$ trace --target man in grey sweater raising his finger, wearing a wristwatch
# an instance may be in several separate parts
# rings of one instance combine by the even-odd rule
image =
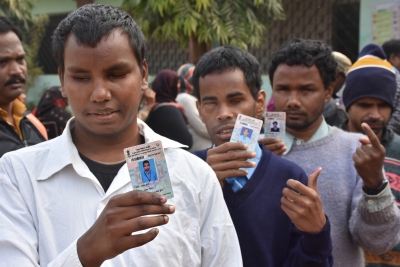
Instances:
[[[363,249],[380,254],[399,242],[399,210],[382,171],[385,149],[371,127],[358,125],[366,138],[322,116],[335,75],[332,50],[313,40],[283,45],[269,67],[276,110],[286,112],[284,158],[305,172],[322,167],[318,192],[332,226],[334,265],[362,267]]]

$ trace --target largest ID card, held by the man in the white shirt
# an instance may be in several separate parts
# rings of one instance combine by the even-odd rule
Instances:
[[[124,149],[133,190],[174,197],[161,141]]]

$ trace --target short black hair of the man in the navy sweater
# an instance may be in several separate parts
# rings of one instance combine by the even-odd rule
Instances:
[[[199,102],[199,80],[207,74],[223,72],[227,69],[240,69],[243,71],[246,85],[250,88],[251,95],[257,98],[261,90],[261,69],[257,59],[247,51],[233,46],[220,46],[204,54],[196,65],[193,73],[193,95]]]

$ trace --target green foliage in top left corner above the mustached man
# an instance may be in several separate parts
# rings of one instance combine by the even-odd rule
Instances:
[[[47,15],[37,16],[32,13],[34,2],[35,0],[0,0],[0,16],[7,16],[20,26],[24,35],[23,46],[29,74],[25,89],[31,87],[36,77],[43,73],[37,56],[49,22]]]

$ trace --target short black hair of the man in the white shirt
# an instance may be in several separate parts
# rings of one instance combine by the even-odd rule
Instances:
[[[125,11],[101,4],[88,4],[71,12],[57,26],[53,34],[53,53],[64,71],[65,42],[73,34],[79,45],[95,48],[103,37],[115,29],[128,35],[136,60],[142,69],[146,56],[146,39],[135,20]]]

